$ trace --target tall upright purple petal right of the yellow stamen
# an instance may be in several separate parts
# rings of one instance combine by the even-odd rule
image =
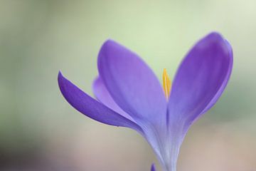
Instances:
[[[219,33],[210,33],[196,43],[174,78],[169,121],[183,123],[188,128],[218,100],[228,83],[232,66],[231,46]]]

